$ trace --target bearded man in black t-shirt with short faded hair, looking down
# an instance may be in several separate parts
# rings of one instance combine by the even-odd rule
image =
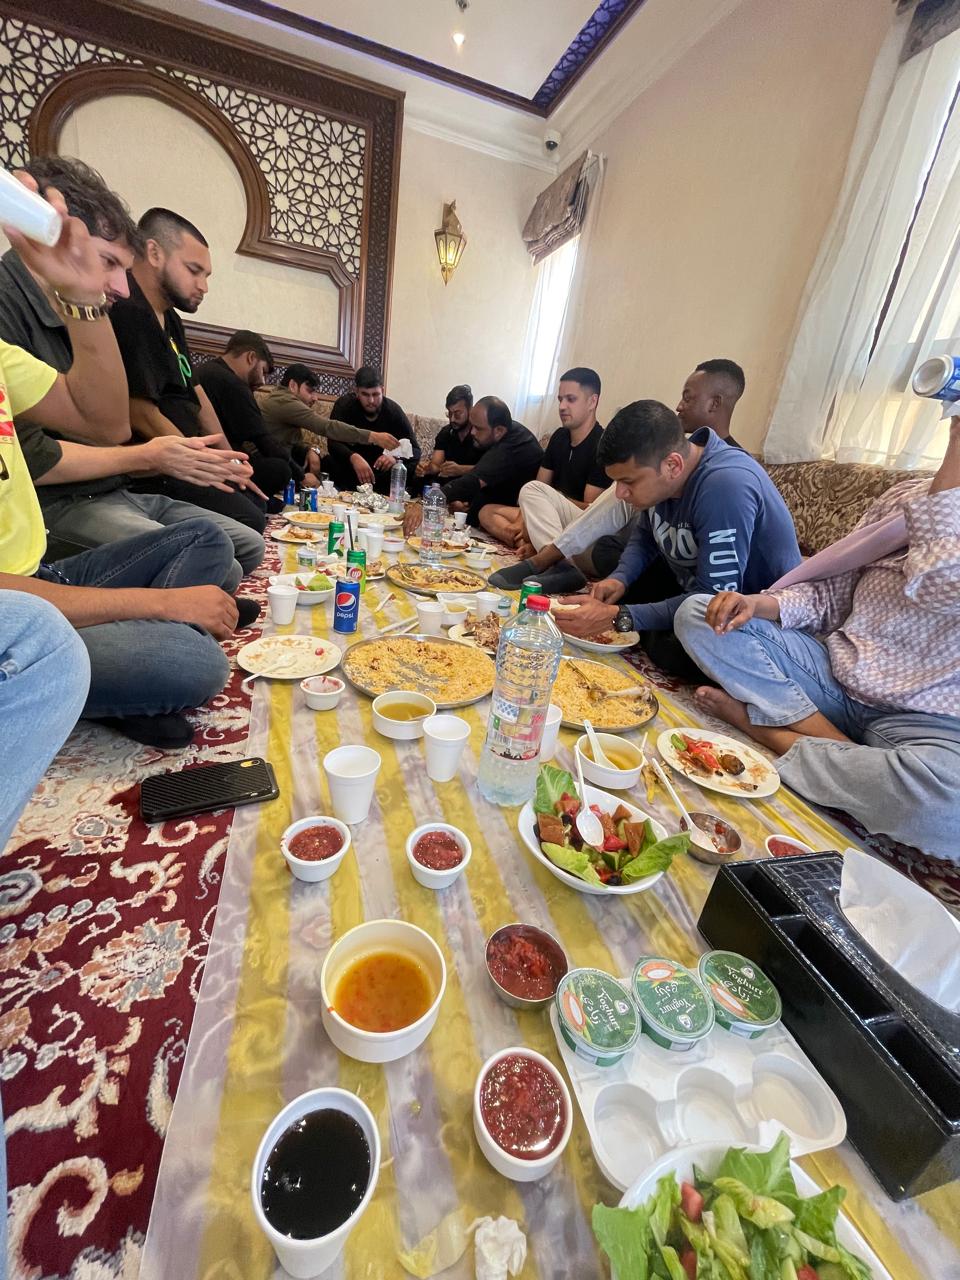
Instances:
[[[127,371],[131,425],[145,440],[211,435],[220,438],[218,447],[228,448],[206,393],[195,383],[183,321],[177,315],[193,315],[206,296],[212,270],[207,242],[192,223],[169,209],[148,209],[137,225],[143,253],[128,274],[129,297],[110,311]],[[266,524],[266,498],[252,481],[242,494],[165,476],[138,481],[136,488],[219,511],[257,532]]]

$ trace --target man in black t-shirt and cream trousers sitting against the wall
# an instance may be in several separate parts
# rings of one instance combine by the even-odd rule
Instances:
[[[561,425],[547,444],[536,479],[520,490],[517,506],[484,508],[483,527],[518,556],[532,556],[553,543],[608,488],[611,481],[596,465],[603,435],[596,421],[599,399],[600,379],[593,369],[567,370],[557,396]]]

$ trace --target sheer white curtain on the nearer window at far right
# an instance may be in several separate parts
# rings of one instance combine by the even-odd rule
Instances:
[[[904,20],[874,70],[808,282],[768,462],[928,467],[946,447],[938,404],[909,387],[931,355],[960,355],[960,32],[895,70]]]

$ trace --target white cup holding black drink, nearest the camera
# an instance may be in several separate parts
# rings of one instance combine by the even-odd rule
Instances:
[[[289,1235],[283,1235],[275,1230],[266,1220],[264,1206],[260,1201],[260,1184],[264,1178],[264,1166],[270,1157],[283,1134],[294,1125],[301,1116],[312,1111],[343,1111],[352,1116],[364,1130],[364,1137],[370,1147],[370,1181],[367,1183],[364,1198],[353,1210],[347,1221],[328,1235],[320,1235],[314,1240],[294,1240]],[[256,1160],[250,1174],[250,1190],[253,1197],[253,1213],[256,1215],[260,1230],[273,1245],[274,1253],[279,1258],[280,1266],[298,1280],[320,1275],[343,1252],[347,1236],[360,1221],[361,1215],[372,1199],[376,1190],[376,1181],[380,1175],[380,1134],[376,1121],[365,1102],[346,1089],[311,1089],[310,1093],[301,1093],[293,1102],[288,1102],[283,1111],[271,1121],[270,1128],[260,1140]]]

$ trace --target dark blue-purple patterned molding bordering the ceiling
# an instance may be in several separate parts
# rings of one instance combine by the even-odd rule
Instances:
[[[234,9],[251,18],[287,27],[326,44],[339,45],[381,63],[390,63],[403,70],[412,72],[415,76],[424,76],[460,92],[485,97],[490,102],[525,111],[540,119],[549,119],[595,59],[616,40],[646,0],[600,0],[532,97],[500,88],[499,84],[492,84],[488,81],[475,79],[472,76],[463,76],[449,67],[428,61],[425,58],[393,49],[390,45],[381,45],[376,40],[334,27],[319,18],[308,18],[306,14],[285,9],[283,5],[270,4],[269,0],[218,0],[218,3],[225,9]]]

